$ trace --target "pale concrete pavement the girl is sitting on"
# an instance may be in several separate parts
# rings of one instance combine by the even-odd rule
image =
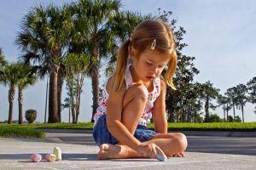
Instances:
[[[255,169],[256,139],[189,136],[183,158],[97,160],[91,134],[47,133],[46,139],[0,138],[0,169]],[[33,163],[32,153],[45,154],[58,146],[62,161]]]

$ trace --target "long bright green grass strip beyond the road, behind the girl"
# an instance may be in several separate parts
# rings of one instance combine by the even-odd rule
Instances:
[[[16,128],[32,128],[32,129],[92,129],[93,123],[38,123],[38,124],[10,124],[0,123],[9,127]],[[150,123],[149,128],[154,128],[154,125]],[[256,122],[213,122],[213,123],[168,123],[168,129],[172,130],[200,130],[200,131],[256,131]]]

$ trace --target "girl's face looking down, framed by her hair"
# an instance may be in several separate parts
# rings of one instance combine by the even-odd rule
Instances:
[[[170,55],[161,54],[151,48],[146,48],[138,57],[131,56],[136,76],[143,82],[150,82],[155,77],[160,77],[161,72],[170,60]]]

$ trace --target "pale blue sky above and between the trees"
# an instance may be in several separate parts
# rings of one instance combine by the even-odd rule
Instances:
[[[71,0],[1,0],[0,1],[0,48],[9,62],[20,55],[15,46],[15,36],[20,31],[20,21],[28,10],[39,3],[62,5]],[[142,14],[158,14],[157,8],[172,11],[176,26],[187,31],[183,42],[188,47],[183,54],[195,57],[195,67],[201,71],[195,76],[197,82],[210,80],[220,93],[239,83],[246,84],[256,76],[256,2],[254,0],[123,0],[122,10]],[[104,72],[101,72],[104,75]],[[103,76],[102,76],[103,77]],[[103,83],[105,80],[101,78]],[[24,90],[23,111],[36,109],[37,122],[44,122],[46,79]],[[62,100],[67,91],[63,88]],[[92,94],[90,79],[84,81],[81,96],[79,122],[90,122]],[[256,122],[253,105],[245,107],[245,122]],[[0,122],[8,119],[8,88],[0,85]],[[223,117],[218,108],[212,113]],[[231,111],[230,111],[231,113]],[[236,110],[241,117],[241,111]],[[18,119],[17,92],[13,120]],[[25,120],[25,118],[24,118]],[[62,111],[62,122],[68,122],[68,111]]]

